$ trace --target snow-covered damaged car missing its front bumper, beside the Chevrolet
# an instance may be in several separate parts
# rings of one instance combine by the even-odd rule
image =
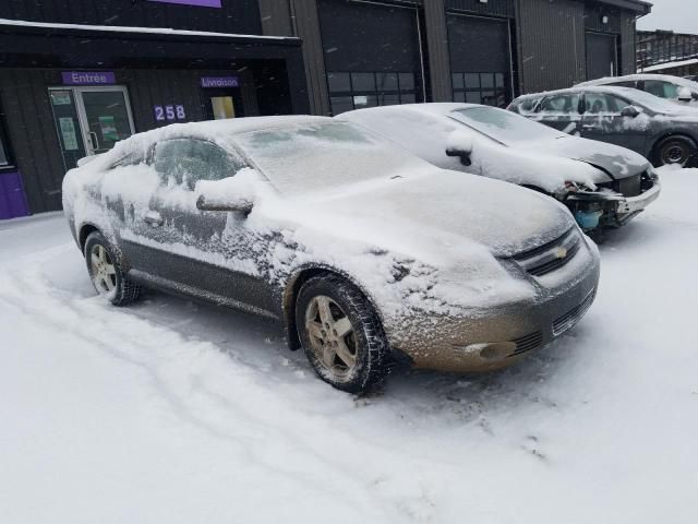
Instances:
[[[637,153],[570,136],[504,109],[416,104],[335,118],[363,126],[435,166],[551,195],[588,233],[627,224],[661,191],[650,164]]]

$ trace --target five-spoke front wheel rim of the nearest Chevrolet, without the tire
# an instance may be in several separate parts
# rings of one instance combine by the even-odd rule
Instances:
[[[320,365],[335,378],[351,374],[358,362],[351,321],[332,298],[313,297],[305,310],[305,332]]]

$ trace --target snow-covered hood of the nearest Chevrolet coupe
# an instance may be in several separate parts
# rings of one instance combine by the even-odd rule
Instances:
[[[350,217],[357,237],[418,257],[467,252],[474,245],[495,257],[512,257],[551,242],[575,225],[569,212],[549,196],[445,169],[357,188],[313,206],[335,218]]]

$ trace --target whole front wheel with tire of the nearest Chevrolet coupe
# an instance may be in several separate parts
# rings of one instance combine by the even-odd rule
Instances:
[[[296,326],[317,376],[338,390],[365,393],[389,373],[389,348],[366,297],[334,275],[303,284],[296,302]]]

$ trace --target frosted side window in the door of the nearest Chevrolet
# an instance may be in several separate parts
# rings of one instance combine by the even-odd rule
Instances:
[[[244,162],[213,142],[172,139],[155,145],[154,167],[164,186],[193,191],[198,180],[232,177]]]

